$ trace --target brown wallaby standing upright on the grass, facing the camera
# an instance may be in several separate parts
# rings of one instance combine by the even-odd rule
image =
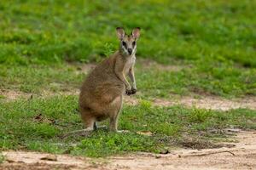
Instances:
[[[118,131],[118,117],[122,108],[123,95],[136,94],[134,65],[137,39],[140,28],[126,35],[123,28],[116,28],[119,37],[119,50],[102,61],[85,79],[79,95],[79,111],[85,129],[76,132],[89,132],[97,128],[96,122],[110,118],[109,130]],[[128,75],[132,85],[125,76]]]

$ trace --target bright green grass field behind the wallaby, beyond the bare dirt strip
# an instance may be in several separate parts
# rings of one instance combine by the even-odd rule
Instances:
[[[99,62],[118,48],[115,27],[142,27],[137,58],[182,71],[137,70],[143,98],[256,94],[256,2],[16,1],[0,4],[0,87],[40,93],[79,88],[67,62]],[[159,12],[160,11],[160,12]]]

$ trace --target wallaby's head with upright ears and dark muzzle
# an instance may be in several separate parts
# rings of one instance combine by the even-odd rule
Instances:
[[[133,55],[137,49],[137,39],[140,37],[140,28],[137,27],[131,31],[130,35],[125,34],[123,28],[116,28],[117,36],[120,40],[120,50],[123,54]]]

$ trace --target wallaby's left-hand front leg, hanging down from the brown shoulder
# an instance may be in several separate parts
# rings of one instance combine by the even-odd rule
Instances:
[[[125,93],[127,95],[131,95],[131,85],[130,83],[127,81],[127,79],[125,78],[125,74],[124,74],[124,64],[122,64],[121,62],[119,62],[119,60],[116,61],[115,66],[114,66],[114,73],[115,75],[125,84]]]

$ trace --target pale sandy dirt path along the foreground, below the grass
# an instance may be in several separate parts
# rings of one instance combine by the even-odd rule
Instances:
[[[237,143],[235,142],[237,141]],[[137,153],[90,159],[37,152],[4,151],[0,169],[256,169],[256,132],[239,132],[232,148],[172,150],[167,155]]]

